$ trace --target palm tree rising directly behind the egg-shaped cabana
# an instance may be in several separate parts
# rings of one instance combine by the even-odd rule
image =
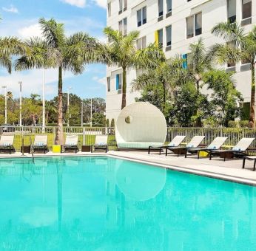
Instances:
[[[123,70],[122,83],[122,104],[121,109],[127,105],[127,69],[150,69],[158,66],[165,60],[164,52],[155,44],[150,44],[145,49],[137,49],[136,42],[139,37],[138,31],[129,32],[122,35],[118,30],[112,30],[110,27],[104,29],[109,44],[107,44],[107,55],[109,64],[121,66]]]

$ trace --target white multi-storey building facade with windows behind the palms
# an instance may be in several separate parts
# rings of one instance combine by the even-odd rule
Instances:
[[[256,0],[108,0],[107,26],[126,34],[140,31],[138,48],[158,42],[163,44],[166,58],[186,58],[189,44],[203,38],[206,47],[223,40],[212,35],[215,24],[238,21],[246,32],[256,24]],[[246,62],[223,66],[235,71],[235,84],[250,101],[251,72]],[[139,92],[132,92],[136,70],[127,71],[127,105],[135,102]],[[107,108],[109,120],[116,120],[121,111],[122,69],[107,67]]]

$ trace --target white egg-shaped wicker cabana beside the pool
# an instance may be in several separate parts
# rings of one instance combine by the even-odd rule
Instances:
[[[150,103],[137,102],[125,107],[115,123],[118,148],[161,146],[166,140],[164,114]]]

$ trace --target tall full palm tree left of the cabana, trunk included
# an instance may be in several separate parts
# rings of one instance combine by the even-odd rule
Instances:
[[[30,49],[16,61],[16,70],[58,68],[58,131],[56,143],[63,144],[62,72],[81,74],[85,63],[104,62],[100,44],[84,32],[70,37],[64,34],[64,24],[55,19],[39,19],[43,38],[26,41]]]

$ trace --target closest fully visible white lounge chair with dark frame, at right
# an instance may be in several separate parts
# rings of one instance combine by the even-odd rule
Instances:
[[[243,157],[254,140],[255,138],[243,138],[231,150],[212,150],[209,152],[209,159],[212,159],[212,156],[218,156],[225,161],[227,158]]]

